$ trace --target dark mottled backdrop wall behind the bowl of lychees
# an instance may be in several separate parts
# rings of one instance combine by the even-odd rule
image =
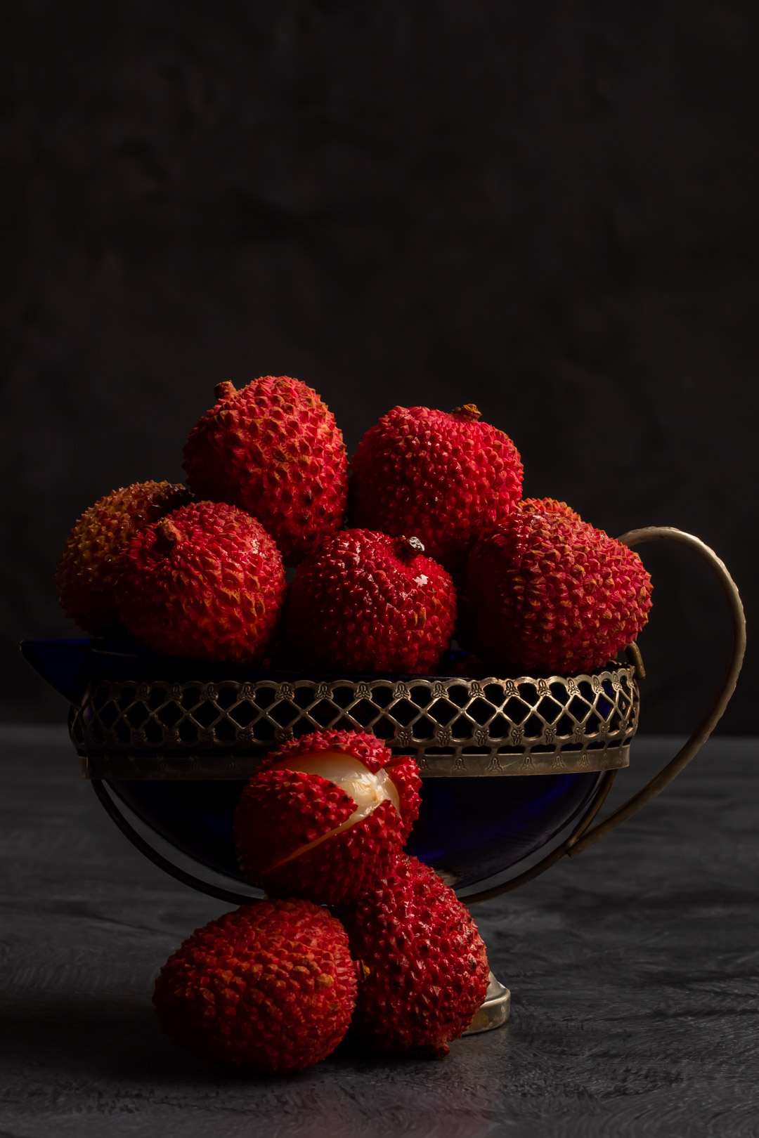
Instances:
[[[751,616],[759,14],[748,2],[7,0],[2,715],[63,717],[77,514],[181,478],[221,379],[287,372],[353,450],[476,402],[526,492],[711,544]],[[727,650],[692,554],[643,549],[644,726]],[[756,608],[756,605],[754,605]],[[756,729],[757,657],[725,726]]]

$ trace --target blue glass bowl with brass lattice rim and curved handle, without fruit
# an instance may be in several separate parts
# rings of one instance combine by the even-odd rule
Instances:
[[[246,669],[101,641],[26,641],[23,652],[72,703],[82,775],[130,840],[179,880],[236,902],[255,896],[232,842],[245,781],[282,741],[332,727],[370,731],[396,753],[415,756],[422,811],[407,849],[473,901],[535,876],[564,852],[579,852],[640,809],[719,719],[743,653],[737,591],[699,538],[650,527],[621,541],[665,538],[690,545],[716,572],[731,602],[731,667],[686,747],[645,791],[589,832],[617,772],[629,764],[644,675],[634,645],[627,662],[587,675],[476,678]],[[537,866],[471,892],[572,823],[569,838]]]

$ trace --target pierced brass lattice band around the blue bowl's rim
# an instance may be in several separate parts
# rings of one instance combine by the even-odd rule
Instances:
[[[423,776],[533,775],[627,766],[637,717],[627,665],[543,679],[101,679],[71,735],[88,778],[246,778],[325,727],[373,732]]]

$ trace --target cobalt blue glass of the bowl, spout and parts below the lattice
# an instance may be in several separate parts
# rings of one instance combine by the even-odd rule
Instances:
[[[71,703],[81,704],[99,678],[256,679],[261,669],[156,657],[139,645],[90,641],[26,641],[35,670]],[[593,803],[602,772],[519,777],[428,777],[410,853],[432,865],[457,889],[512,868],[536,853]],[[200,866],[242,881],[234,857],[232,818],[245,782],[109,780],[113,794],[151,831]]]

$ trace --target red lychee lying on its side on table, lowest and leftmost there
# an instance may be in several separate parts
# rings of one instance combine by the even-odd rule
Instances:
[[[262,901],[198,929],[170,956],[152,1003],[166,1034],[201,1058],[302,1071],[335,1050],[356,997],[340,923],[308,901]]]

